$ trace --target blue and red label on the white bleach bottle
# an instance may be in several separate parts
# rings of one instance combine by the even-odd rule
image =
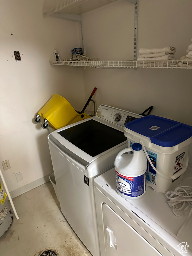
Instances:
[[[138,197],[146,190],[146,172],[140,176],[130,177],[119,174],[116,170],[116,189],[119,193],[129,197]]]

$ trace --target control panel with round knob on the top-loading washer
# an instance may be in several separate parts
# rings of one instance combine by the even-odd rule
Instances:
[[[125,126],[126,123],[142,117],[139,114],[135,114],[126,110],[100,105],[96,116],[101,117],[107,121],[118,124],[120,126]]]

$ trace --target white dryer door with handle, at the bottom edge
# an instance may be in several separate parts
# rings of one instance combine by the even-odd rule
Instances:
[[[101,256],[162,256],[107,204],[102,205],[105,251]]]

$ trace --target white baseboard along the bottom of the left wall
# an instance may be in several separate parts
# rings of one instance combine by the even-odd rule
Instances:
[[[32,190],[36,187],[39,187],[39,186],[47,183],[49,181],[49,176],[50,176],[50,174],[48,174],[48,175],[46,175],[46,176],[44,176],[44,177],[42,177],[38,180],[35,180],[31,183],[28,183],[28,184],[26,184],[26,185],[24,185],[20,188],[17,188],[15,190],[11,191],[10,192],[11,198],[15,198],[17,196],[20,196],[20,195],[24,194],[25,192],[27,192],[29,190]]]

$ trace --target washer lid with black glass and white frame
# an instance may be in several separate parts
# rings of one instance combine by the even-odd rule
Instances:
[[[127,144],[127,138],[123,127],[91,117],[50,133],[48,142],[86,169],[104,155],[102,159],[108,159],[111,151]]]

